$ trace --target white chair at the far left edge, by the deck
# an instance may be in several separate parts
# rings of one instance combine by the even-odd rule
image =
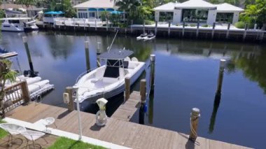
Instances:
[[[8,145],[12,146],[13,141],[13,135],[18,135],[21,132],[25,132],[27,129],[25,127],[22,127],[20,125],[15,125],[11,123],[2,123],[0,124],[1,129],[6,130],[8,132]]]

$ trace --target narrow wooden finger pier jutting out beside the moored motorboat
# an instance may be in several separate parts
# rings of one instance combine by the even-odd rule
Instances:
[[[139,92],[132,92],[130,94],[130,99],[121,104],[111,118],[116,118],[119,120],[130,121],[134,113],[138,110],[140,106],[140,95]]]

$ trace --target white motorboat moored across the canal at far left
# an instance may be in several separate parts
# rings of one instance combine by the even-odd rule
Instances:
[[[31,17],[6,17],[1,18],[1,31],[32,31],[38,29]]]

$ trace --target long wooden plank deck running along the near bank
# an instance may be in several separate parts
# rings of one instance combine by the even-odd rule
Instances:
[[[197,143],[194,144],[188,141],[186,134],[139,125],[118,118],[109,118],[105,127],[98,127],[94,125],[96,121],[94,114],[81,112],[80,116],[83,136],[130,148],[245,148],[202,137],[198,137]],[[6,117],[32,123],[42,118],[53,117],[56,119],[56,129],[78,134],[77,111],[69,113],[66,108],[31,103],[6,113]],[[51,125],[51,127],[55,128],[54,125]]]

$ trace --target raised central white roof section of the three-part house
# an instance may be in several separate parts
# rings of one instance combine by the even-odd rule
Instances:
[[[216,6],[203,0],[189,0],[179,3],[175,8],[216,8]]]

